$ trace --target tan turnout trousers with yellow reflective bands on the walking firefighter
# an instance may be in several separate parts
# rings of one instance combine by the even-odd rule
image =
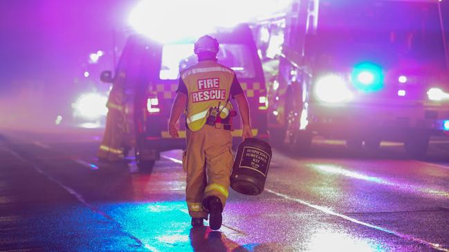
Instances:
[[[187,150],[183,168],[187,172],[186,201],[191,217],[208,218],[202,202],[216,196],[224,205],[228,198],[233,156],[230,130],[204,125],[198,131],[187,128]]]

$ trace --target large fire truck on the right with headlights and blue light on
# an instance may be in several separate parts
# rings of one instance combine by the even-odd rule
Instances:
[[[296,153],[317,135],[369,150],[403,142],[423,157],[430,137],[449,130],[441,20],[438,0],[301,0],[255,24],[274,72],[266,79],[272,139]]]

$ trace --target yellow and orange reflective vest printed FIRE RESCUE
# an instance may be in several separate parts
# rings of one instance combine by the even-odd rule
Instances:
[[[220,117],[229,115],[230,87],[235,73],[216,61],[200,61],[181,72],[181,78],[188,90],[187,126],[192,131],[203,128],[209,109],[220,104]],[[228,102],[226,102],[228,101]]]

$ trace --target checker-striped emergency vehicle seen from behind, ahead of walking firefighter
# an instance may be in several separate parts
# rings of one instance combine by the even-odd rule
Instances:
[[[219,63],[232,68],[246,93],[253,123],[253,135],[268,139],[267,100],[264,72],[250,28],[241,24],[211,34],[220,43]],[[197,38],[194,38],[197,39]],[[123,106],[128,151],[135,148],[136,162],[152,168],[162,151],[185,148],[185,116],[178,122],[180,138],[170,137],[167,126],[170,110],[178,88],[179,72],[197,63],[194,39],[176,43],[160,43],[143,35],[131,35],[118,62],[116,76],[102,72],[102,80],[125,79]],[[237,105],[232,101],[232,105]],[[234,144],[241,141],[241,122],[238,111],[233,119]],[[134,146],[133,146],[134,145]]]

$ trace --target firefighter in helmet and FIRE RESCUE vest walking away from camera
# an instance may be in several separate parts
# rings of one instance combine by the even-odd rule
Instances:
[[[217,63],[219,43],[205,35],[196,41],[198,64],[181,71],[168,130],[178,137],[176,122],[185,111],[187,148],[183,169],[187,172],[186,201],[192,226],[203,226],[210,217],[210,228],[221,227],[232,169],[230,98],[237,101],[243,124],[242,138],[253,137],[248,101],[235,72]]]

